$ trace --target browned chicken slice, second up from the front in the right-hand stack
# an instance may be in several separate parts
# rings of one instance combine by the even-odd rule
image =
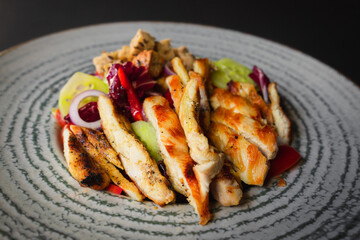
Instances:
[[[261,125],[254,119],[222,107],[212,113],[211,120],[222,123],[242,135],[246,140],[258,146],[268,159],[276,156],[278,150],[276,132],[269,125]]]

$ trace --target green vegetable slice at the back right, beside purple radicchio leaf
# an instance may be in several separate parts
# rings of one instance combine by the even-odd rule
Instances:
[[[255,82],[249,77],[251,70],[248,67],[229,58],[220,59],[213,64],[218,69],[211,74],[211,80],[216,87],[226,89],[231,80],[255,85]]]

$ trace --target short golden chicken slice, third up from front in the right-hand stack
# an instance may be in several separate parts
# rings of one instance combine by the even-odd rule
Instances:
[[[227,90],[216,88],[210,98],[210,103],[213,109],[218,107],[232,110],[235,113],[241,113],[255,120],[261,120],[259,110],[249,103],[246,98],[233,95]]]

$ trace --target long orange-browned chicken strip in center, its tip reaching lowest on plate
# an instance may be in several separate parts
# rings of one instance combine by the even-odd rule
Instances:
[[[195,177],[185,133],[176,113],[168,101],[160,96],[145,99],[145,114],[156,130],[157,141],[164,157],[166,171],[174,189],[185,195],[200,216],[200,224],[210,218],[209,199],[200,195],[199,183]]]

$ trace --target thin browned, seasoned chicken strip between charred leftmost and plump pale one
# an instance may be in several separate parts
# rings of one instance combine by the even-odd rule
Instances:
[[[130,198],[138,201],[144,199],[144,195],[142,195],[136,185],[127,180],[112,164],[112,162],[119,163],[120,160],[102,132],[75,125],[71,125],[70,129],[81,143],[86,153],[91,159],[98,163],[116,185],[121,187]],[[120,166],[122,167],[121,162]]]

